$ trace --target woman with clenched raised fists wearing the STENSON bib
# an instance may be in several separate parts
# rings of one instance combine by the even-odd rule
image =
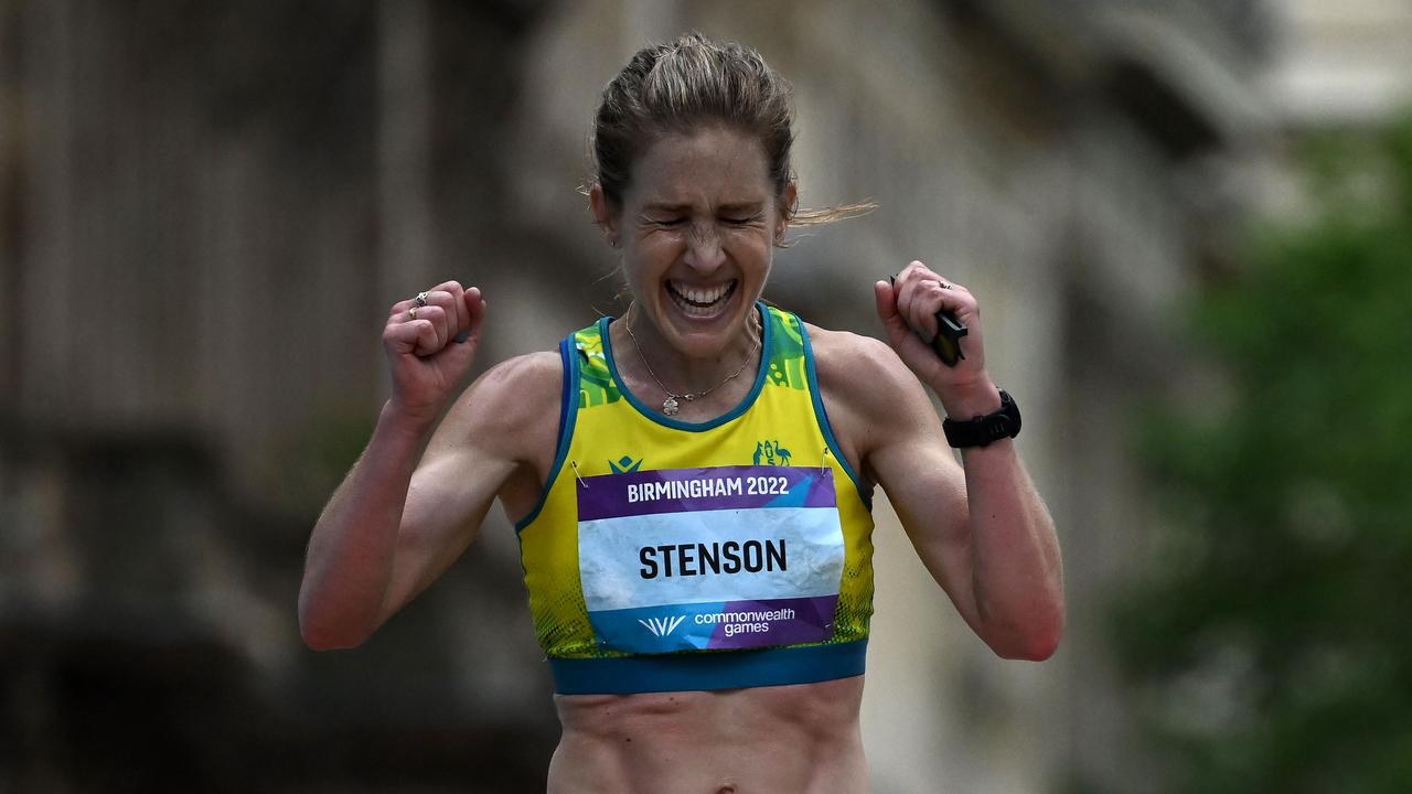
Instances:
[[[367,639],[498,497],[563,723],[551,791],[864,791],[881,486],[997,654],[1053,653],[1058,543],[974,297],[911,263],[874,285],[887,345],[758,302],[791,223],[829,218],[795,212],[791,141],[788,86],[755,52],[650,47],[594,123],[589,203],[626,315],[490,369],[433,427],[486,301],[448,281],[393,307],[393,396],[309,544],[311,647]],[[942,309],[969,326],[955,366],[922,340]],[[977,438],[957,424],[963,466],[923,384],[953,420],[1001,414]]]

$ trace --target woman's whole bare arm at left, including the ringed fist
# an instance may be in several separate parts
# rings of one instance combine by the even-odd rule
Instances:
[[[522,408],[535,400],[558,403],[558,357],[514,359],[466,390],[432,435],[470,365],[484,308],[474,290],[442,287],[428,307],[417,307],[417,318],[411,301],[394,305],[384,329],[393,398],[309,540],[299,588],[299,629],[309,647],[363,643],[435,581],[525,465],[531,441],[515,417],[528,415]],[[469,338],[456,343],[462,331]]]

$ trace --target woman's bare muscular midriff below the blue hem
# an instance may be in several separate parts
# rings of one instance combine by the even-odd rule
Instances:
[[[863,677],[819,684],[555,695],[549,794],[860,794]]]

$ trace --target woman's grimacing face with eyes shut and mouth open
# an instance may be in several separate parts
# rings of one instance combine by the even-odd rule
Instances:
[[[724,127],[669,134],[633,164],[614,213],[633,300],[692,357],[746,328],[784,233],[764,147]]]

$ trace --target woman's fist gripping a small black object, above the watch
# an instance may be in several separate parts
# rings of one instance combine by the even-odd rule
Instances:
[[[949,415],[969,418],[1000,407],[1000,394],[986,372],[980,307],[970,290],[912,261],[895,283],[878,281],[873,292],[888,345],[918,380],[936,391]],[[942,309],[956,315],[967,329],[960,339],[966,357],[955,367],[942,363],[929,343],[938,331],[936,312]]]

